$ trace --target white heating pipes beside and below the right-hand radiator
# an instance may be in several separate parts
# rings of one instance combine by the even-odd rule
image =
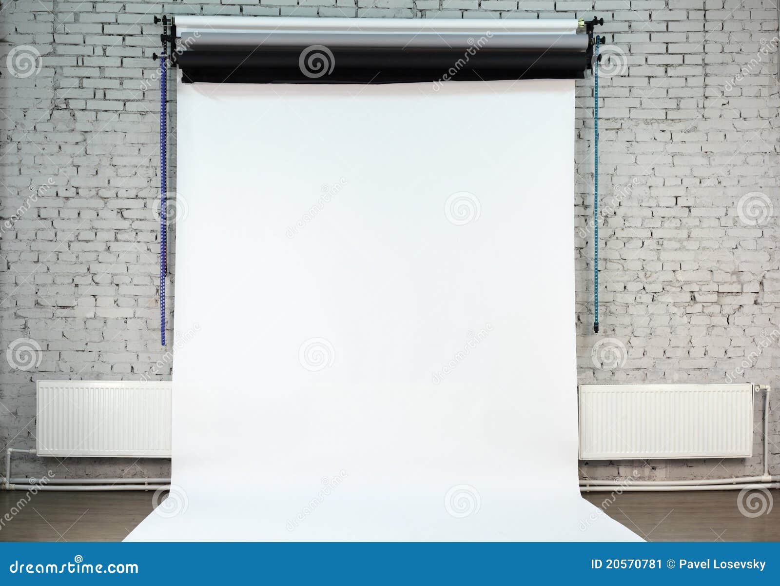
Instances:
[[[780,488],[780,476],[769,474],[769,393],[770,385],[755,385],[764,391],[764,475],[706,480],[580,480],[580,492],[736,490],[743,488]],[[753,484],[750,484],[753,483]]]

